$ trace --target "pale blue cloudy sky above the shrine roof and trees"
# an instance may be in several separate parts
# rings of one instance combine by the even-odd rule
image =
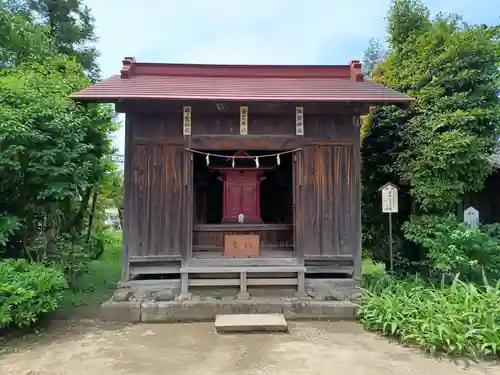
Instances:
[[[390,0],[85,0],[103,78],[141,62],[347,64],[384,40]],[[424,0],[431,12],[500,23],[500,0]],[[123,116],[120,117],[123,121]],[[124,150],[123,126],[114,139]]]

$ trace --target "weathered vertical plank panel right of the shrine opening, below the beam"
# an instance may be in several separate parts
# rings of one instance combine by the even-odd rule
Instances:
[[[357,251],[354,145],[307,146],[298,166],[297,246],[305,258]]]

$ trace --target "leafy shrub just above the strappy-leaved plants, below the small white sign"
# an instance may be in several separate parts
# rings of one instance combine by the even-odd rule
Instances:
[[[440,276],[464,280],[499,274],[500,243],[481,229],[470,228],[453,216],[421,216],[404,224],[405,237],[426,250],[430,269]]]

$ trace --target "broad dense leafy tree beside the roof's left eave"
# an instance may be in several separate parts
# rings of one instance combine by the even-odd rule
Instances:
[[[96,147],[93,126],[98,116],[99,123],[111,124],[111,113],[69,99],[87,82],[79,65],[61,58],[21,64],[0,79],[0,212],[23,224],[15,253],[42,233],[50,242],[73,232],[81,192],[107,152]],[[109,130],[99,137],[111,148]]]

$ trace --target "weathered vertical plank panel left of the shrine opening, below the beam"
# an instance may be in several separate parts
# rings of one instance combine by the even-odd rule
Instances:
[[[178,255],[186,246],[187,184],[182,147],[134,145],[129,255]]]

